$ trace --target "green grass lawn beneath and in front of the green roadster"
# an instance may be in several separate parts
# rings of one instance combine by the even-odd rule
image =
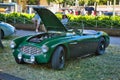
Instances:
[[[4,39],[0,49],[0,71],[26,80],[120,80],[120,46],[110,45],[106,54],[66,61],[63,70],[49,64],[17,64],[9,47],[11,38]]]

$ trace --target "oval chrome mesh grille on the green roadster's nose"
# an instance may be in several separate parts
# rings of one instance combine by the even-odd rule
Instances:
[[[42,50],[33,46],[22,46],[20,51],[25,54],[41,54]]]

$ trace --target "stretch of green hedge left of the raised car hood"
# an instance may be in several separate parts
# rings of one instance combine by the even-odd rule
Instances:
[[[0,14],[0,20],[7,23],[32,23],[31,19],[34,14],[27,13],[10,13],[10,14]]]

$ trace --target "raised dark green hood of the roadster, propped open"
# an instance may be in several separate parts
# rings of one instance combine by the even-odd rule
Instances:
[[[33,9],[39,14],[47,31],[67,31],[61,21],[50,10],[45,7],[34,7]]]

